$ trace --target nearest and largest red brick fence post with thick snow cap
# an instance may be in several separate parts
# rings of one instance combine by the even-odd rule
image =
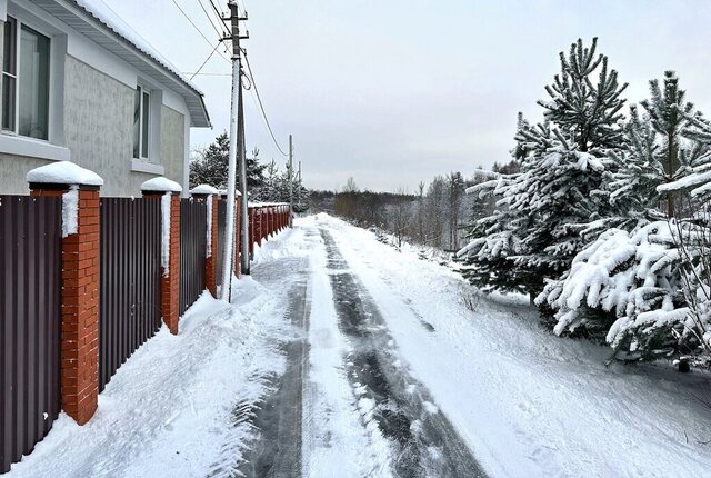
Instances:
[[[27,175],[31,196],[62,198],[62,409],[84,425],[99,404],[99,188],[94,172],[62,161]]]

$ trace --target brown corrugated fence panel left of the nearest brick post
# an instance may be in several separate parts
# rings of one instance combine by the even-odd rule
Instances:
[[[59,415],[61,198],[0,196],[0,472]]]

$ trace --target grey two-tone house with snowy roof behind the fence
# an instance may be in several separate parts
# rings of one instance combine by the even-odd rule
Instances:
[[[203,94],[101,0],[0,0],[0,193],[67,160],[102,176],[102,196],[156,176],[188,190]]]

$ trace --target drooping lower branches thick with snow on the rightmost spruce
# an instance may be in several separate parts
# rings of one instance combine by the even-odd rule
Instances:
[[[700,337],[709,317],[698,322],[690,313],[685,290],[692,285],[683,270],[710,252],[703,247],[704,235],[705,228],[674,220],[652,222],[632,233],[611,229],[579,253],[568,277],[550,283],[537,302],[557,310],[559,335],[588,326],[588,308],[610,312],[607,341],[615,350],[653,357],[669,346],[705,347],[708,337],[705,342]],[[708,302],[701,293],[708,285],[697,288],[694,293]]]

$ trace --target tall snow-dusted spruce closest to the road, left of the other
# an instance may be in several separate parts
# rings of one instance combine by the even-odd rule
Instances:
[[[547,280],[560,278],[572,258],[594,240],[611,216],[604,183],[610,150],[623,145],[627,88],[608,59],[573,43],[560,54],[561,71],[539,101],[545,122],[519,118],[513,156],[521,172],[474,188],[498,198],[499,210],[473,225],[461,251],[465,273],[485,288],[523,290],[535,297]],[[492,268],[503,270],[492,271]]]

